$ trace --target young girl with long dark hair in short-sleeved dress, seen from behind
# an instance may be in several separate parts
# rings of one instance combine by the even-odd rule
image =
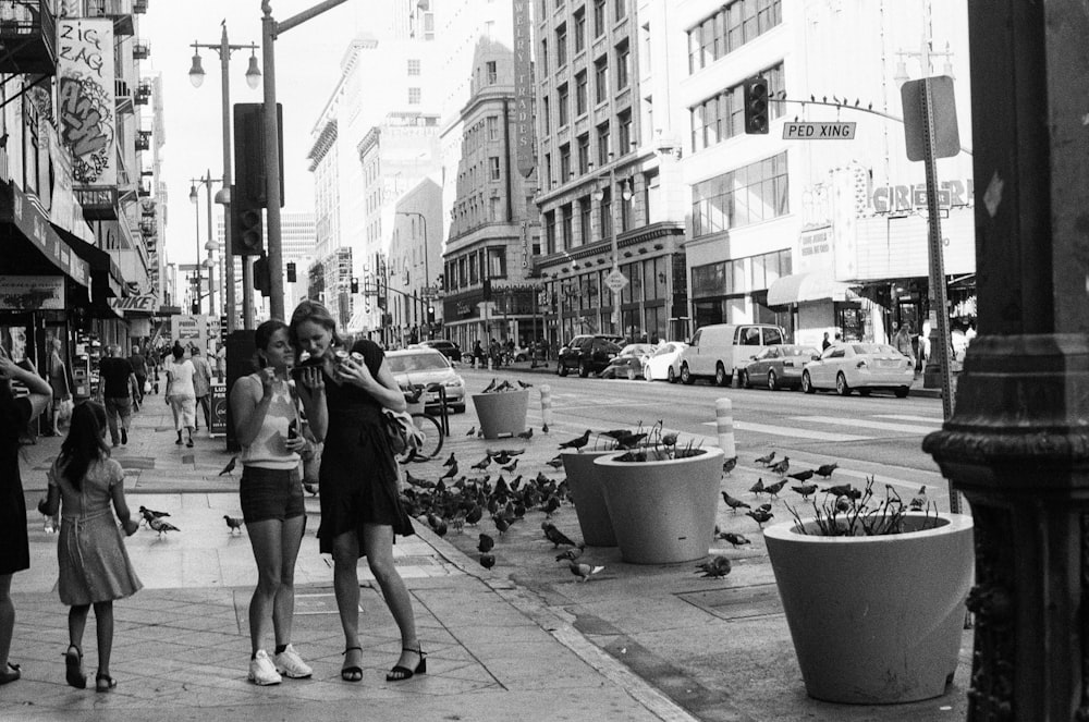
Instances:
[[[62,510],[57,543],[58,590],[61,602],[71,608],[65,676],[73,687],[87,686],[83,632],[94,604],[98,633],[97,692],[109,692],[118,684],[110,676],[113,600],[132,596],[143,587],[110,514],[112,503],[125,535],[131,537],[136,533],[139,525],[125,502],[124,470],[110,458],[106,443],[106,408],[101,404],[88,401],[75,407],[60,456],[49,469],[49,497],[38,503],[42,514],[56,514],[58,506]]]

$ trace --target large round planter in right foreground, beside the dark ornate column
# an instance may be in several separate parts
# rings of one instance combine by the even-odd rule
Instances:
[[[909,515],[908,528],[925,519]],[[944,694],[971,588],[971,517],[939,514],[937,528],[878,537],[796,526],[775,524],[763,537],[809,696],[882,705]]]

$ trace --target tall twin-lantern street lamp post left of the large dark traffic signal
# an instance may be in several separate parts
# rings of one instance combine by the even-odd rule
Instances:
[[[231,45],[227,39],[227,21],[223,21],[223,33],[220,37],[220,41],[217,45],[201,45],[199,42],[193,44],[194,54],[193,54],[193,66],[189,69],[189,82],[194,87],[200,87],[204,83],[204,68],[200,66],[200,48],[208,48],[219,52],[220,60],[220,71],[222,77],[222,96],[223,96],[223,188],[231,187],[231,76],[228,72],[231,52],[234,50],[245,50],[249,49],[252,53],[256,53],[257,46],[253,42],[249,45]],[[253,88],[257,88],[261,75],[260,69],[257,68],[257,56],[250,54],[249,57],[249,68],[246,70],[246,84]],[[210,211],[209,211],[210,212]],[[237,310],[235,309],[235,297],[234,297],[234,255],[233,246],[231,245],[231,207],[229,203],[223,204],[223,257],[224,261],[224,285],[225,291],[223,294],[224,298],[224,311],[227,313],[227,331],[228,333],[234,331],[235,329],[235,317]],[[253,283],[249,282],[248,277],[253,272],[252,267],[247,262],[248,257],[242,257],[242,294],[243,294],[243,313],[245,315],[245,320],[243,322],[244,328],[253,328],[254,326],[254,311],[253,311],[253,299],[250,298],[253,294]]]

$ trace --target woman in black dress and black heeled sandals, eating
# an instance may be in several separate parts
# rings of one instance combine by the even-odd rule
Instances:
[[[321,526],[319,548],[333,556],[333,591],[344,631],[341,678],[363,678],[359,646],[359,558],[366,555],[386,604],[401,631],[401,656],[386,675],[390,682],[427,672],[416,636],[412,599],[393,564],[393,536],[414,534],[401,504],[399,469],[386,433],[382,408],[405,411],[386,354],[372,341],[352,346],[363,360],[337,360],[337,323],[321,304],[304,301],[291,317],[296,356],[320,358],[329,427],[325,433],[319,475]]]

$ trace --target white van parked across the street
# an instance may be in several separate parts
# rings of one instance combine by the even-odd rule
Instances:
[[[713,378],[730,386],[734,375],[767,346],[786,343],[786,332],[770,323],[715,323],[696,331],[681,352],[681,381]]]

